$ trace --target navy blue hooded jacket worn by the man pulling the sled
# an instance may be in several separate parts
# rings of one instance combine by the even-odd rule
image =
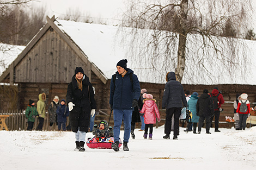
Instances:
[[[132,75],[133,91],[130,75],[133,71],[127,68],[127,73],[122,77],[118,72],[112,75],[110,83],[109,104],[113,109],[132,109],[132,100],[139,99],[141,87],[137,75]],[[115,79],[115,84],[113,79]]]

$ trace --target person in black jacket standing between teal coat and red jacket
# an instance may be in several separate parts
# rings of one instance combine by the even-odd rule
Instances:
[[[198,134],[201,133],[203,122],[206,122],[206,134],[210,133],[210,118],[214,114],[212,98],[208,95],[209,91],[205,89],[203,94],[197,100],[197,116],[199,116]]]

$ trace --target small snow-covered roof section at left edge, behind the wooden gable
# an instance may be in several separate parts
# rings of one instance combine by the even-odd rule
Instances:
[[[8,68],[26,46],[0,43],[0,75]]]

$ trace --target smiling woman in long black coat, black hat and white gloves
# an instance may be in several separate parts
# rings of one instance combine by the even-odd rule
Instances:
[[[93,86],[82,67],[76,67],[75,75],[68,85],[66,102],[70,111],[70,125],[76,137],[76,148],[83,152],[86,133],[90,125],[90,115],[95,113]]]

